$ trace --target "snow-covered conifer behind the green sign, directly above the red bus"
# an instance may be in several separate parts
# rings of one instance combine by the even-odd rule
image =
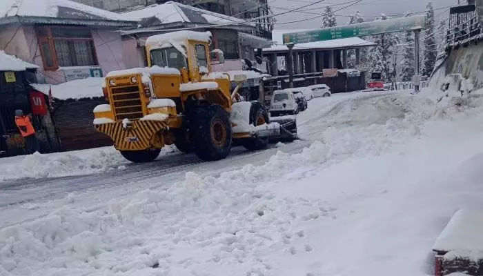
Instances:
[[[387,19],[388,17],[385,14],[381,14],[376,17],[375,21]],[[373,35],[373,39],[377,46],[371,50],[371,70],[382,72],[383,79],[390,81],[393,47],[399,43],[399,37],[395,34],[376,34]]]

